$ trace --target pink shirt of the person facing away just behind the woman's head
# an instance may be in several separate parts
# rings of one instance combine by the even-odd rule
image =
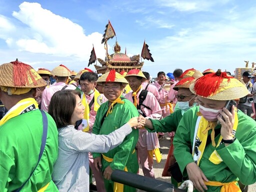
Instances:
[[[48,112],[48,106],[50,103],[50,99],[52,95],[57,92],[58,90],[61,90],[63,86],[65,86],[66,83],[64,82],[57,82],[55,84],[50,85],[48,88],[46,87],[42,92],[42,101],[41,101],[41,109]],[[74,90],[76,87],[74,85],[67,85],[65,89],[72,89]]]

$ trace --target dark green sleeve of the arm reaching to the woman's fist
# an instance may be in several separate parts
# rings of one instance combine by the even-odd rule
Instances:
[[[168,116],[165,116],[161,120],[158,119],[151,119],[149,120],[152,123],[153,129],[149,129],[147,127],[146,130],[148,132],[171,132],[176,131],[178,123],[182,118],[181,110],[178,109],[173,113],[170,113]]]

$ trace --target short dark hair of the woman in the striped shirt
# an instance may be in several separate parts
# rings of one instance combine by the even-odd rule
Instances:
[[[81,97],[79,91],[71,89],[59,90],[52,95],[48,113],[54,119],[57,128],[72,124],[71,117],[76,106],[75,95]]]

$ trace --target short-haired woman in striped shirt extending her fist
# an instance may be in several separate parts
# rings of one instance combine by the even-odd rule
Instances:
[[[53,166],[52,180],[59,191],[89,191],[88,152],[107,152],[122,142],[131,132],[131,127],[139,125],[134,117],[108,135],[76,130],[74,125],[83,118],[84,106],[80,93],[75,90],[55,92],[48,113],[58,128],[58,157]]]

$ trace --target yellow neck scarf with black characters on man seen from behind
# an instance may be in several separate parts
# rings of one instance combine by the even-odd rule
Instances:
[[[0,125],[4,124],[10,118],[13,118],[24,112],[34,110],[38,108],[38,104],[34,98],[25,98],[18,101],[14,106],[8,110],[8,112],[0,120]]]

